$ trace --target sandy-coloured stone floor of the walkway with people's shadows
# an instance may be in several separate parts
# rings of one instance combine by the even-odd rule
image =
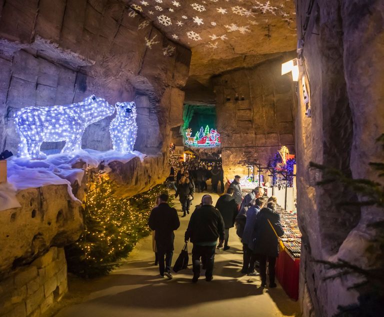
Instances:
[[[202,194],[196,193],[193,205]],[[212,195],[214,203],[218,195]],[[177,210],[181,209],[177,201]],[[178,212],[181,215],[181,212]],[[180,218],[175,231],[173,262],[183,246],[189,215]],[[240,273],[241,243],[230,229],[228,251],[217,250],[213,280],[200,277],[191,283],[191,266],[173,274],[172,280],[160,278],[153,265],[152,238],[139,241],[122,265],[111,274],[93,279],[69,279],[69,293],[62,301],[57,317],[76,316],[294,316],[299,315],[297,302],[289,299],[282,288],[264,289],[258,277]],[[188,243],[189,251],[192,245]],[[190,261],[190,257],[189,257]]]

